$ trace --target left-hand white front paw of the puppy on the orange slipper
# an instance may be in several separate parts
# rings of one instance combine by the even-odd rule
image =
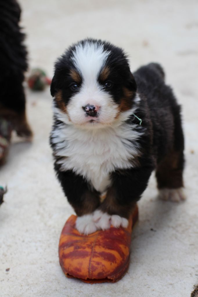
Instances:
[[[85,235],[94,233],[97,230],[97,228],[93,222],[93,214],[85,214],[82,217],[77,217],[76,229],[81,234],[85,234]]]

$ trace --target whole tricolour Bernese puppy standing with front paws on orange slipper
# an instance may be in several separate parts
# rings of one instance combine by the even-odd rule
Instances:
[[[51,83],[54,168],[82,234],[127,227],[153,170],[159,196],[180,201],[180,106],[159,64],[133,74],[121,48],[85,39],[56,61]]]

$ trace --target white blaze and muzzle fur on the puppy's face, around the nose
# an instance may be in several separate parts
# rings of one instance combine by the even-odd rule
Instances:
[[[70,120],[76,125],[90,126],[89,119],[82,109],[87,104],[100,107],[98,118],[92,118],[100,123],[111,123],[116,114],[118,106],[111,95],[105,92],[98,83],[98,75],[106,63],[110,52],[105,51],[103,45],[96,42],[85,42],[79,44],[73,51],[72,60],[82,77],[81,89],[74,94],[67,105]]]

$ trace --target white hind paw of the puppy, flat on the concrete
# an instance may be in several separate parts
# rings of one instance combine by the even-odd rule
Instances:
[[[186,195],[183,188],[177,189],[161,189],[158,194],[158,198],[162,200],[169,200],[173,202],[180,202],[186,200]]]

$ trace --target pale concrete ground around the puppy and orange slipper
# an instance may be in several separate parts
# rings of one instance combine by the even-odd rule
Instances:
[[[67,279],[58,243],[73,214],[55,178],[48,136],[51,95],[26,89],[33,143],[13,136],[0,184],[8,187],[0,207],[2,297],[190,297],[198,283],[198,2],[189,0],[20,0],[29,66],[53,74],[57,56],[84,37],[109,40],[126,50],[131,69],[160,62],[183,106],[187,200],[156,198],[154,176],[139,202],[128,273],[115,284]],[[7,268],[10,268],[7,271]]]

